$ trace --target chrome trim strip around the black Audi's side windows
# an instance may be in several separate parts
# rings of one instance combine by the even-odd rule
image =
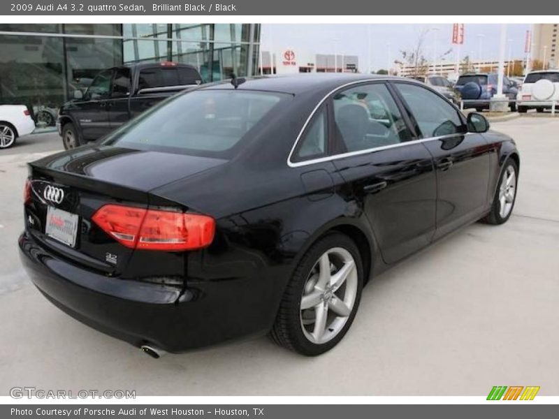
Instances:
[[[433,141],[433,140],[444,140],[445,138],[452,138],[452,137],[456,137],[457,135],[470,135],[471,134],[471,133],[466,132],[466,133],[454,133],[454,134],[440,135],[438,137],[418,138],[417,140],[398,142],[396,144],[383,145],[381,147],[372,147],[370,149],[358,150],[356,152],[334,154],[333,156],[319,157],[317,159],[310,159],[310,160],[305,160],[305,161],[296,161],[296,162],[291,161],[291,156],[293,156],[293,152],[295,152],[295,149],[297,148],[298,142],[299,142],[301,136],[303,135],[303,133],[305,132],[305,129],[307,128],[307,125],[310,123],[310,120],[312,119],[312,117],[314,117],[314,114],[317,112],[317,110],[321,107],[321,105],[324,103],[324,101],[326,101],[326,99],[331,96],[331,94],[335,93],[335,91],[338,91],[340,89],[344,89],[344,87],[349,87],[349,86],[352,86],[354,84],[367,83],[367,82],[386,82],[386,81],[390,81],[390,80],[392,80],[392,79],[391,78],[386,78],[386,79],[383,78],[383,79],[379,80],[378,78],[373,78],[373,79],[356,80],[354,82],[349,82],[349,83],[346,83],[346,84],[342,84],[341,86],[338,86],[335,89],[329,91],[328,94],[326,94],[324,96],[324,98],[321,98],[321,101],[319,101],[319,103],[314,107],[312,112],[310,112],[310,115],[309,115],[309,117],[307,117],[307,120],[305,121],[305,124],[303,124],[303,128],[300,129],[299,134],[297,135],[297,138],[296,138],[295,142],[293,143],[293,147],[291,147],[291,151],[289,152],[289,156],[287,157],[287,166],[289,166],[290,168],[298,168],[298,167],[301,167],[301,166],[308,166],[308,165],[315,164],[315,163],[323,163],[324,161],[333,161],[333,160],[338,160],[338,159],[345,159],[346,157],[358,156],[360,154],[368,154],[368,153],[372,153],[372,152],[379,152],[379,151],[386,150],[386,149],[403,147],[405,145],[421,144],[421,142],[427,142],[427,141]]]

